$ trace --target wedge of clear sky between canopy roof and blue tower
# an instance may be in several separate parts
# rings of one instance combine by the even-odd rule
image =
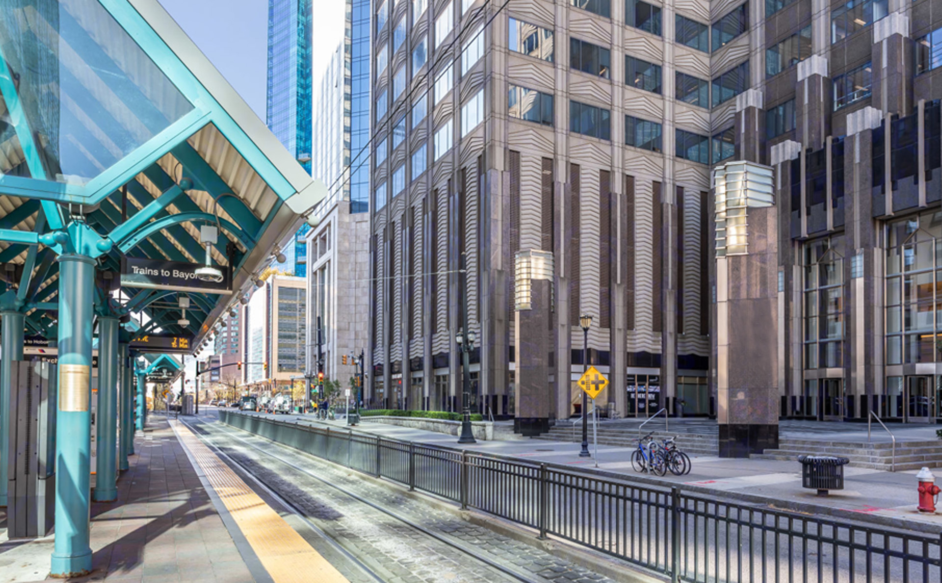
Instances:
[[[159,1],[265,121],[268,1]]]

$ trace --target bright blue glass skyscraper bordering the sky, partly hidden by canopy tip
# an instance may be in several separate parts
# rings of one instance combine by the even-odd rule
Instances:
[[[268,0],[268,128],[311,171],[311,0]],[[294,275],[307,273],[301,227],[288,261],[281,267]]]

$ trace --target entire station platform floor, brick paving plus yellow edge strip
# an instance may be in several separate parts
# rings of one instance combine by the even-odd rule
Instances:
[[[150,415],[135,452],[118,499],[91,504],[92,573],[69,581],[347,580],[182,423]],[[0,583],[61,580],[53,535],[6,533],[0,509]]]

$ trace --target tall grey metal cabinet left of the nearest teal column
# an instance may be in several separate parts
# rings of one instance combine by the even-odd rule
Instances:
[[[14,361],[10,382],[8,537],[49,534],[56,512],[56,364]]]

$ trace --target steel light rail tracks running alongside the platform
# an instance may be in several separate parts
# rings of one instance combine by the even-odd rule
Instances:
[[[310,526],[315,532],[317,532],[317,534],[318,534],[319,536],[321,536],[325,541],[329,542],[329,543],[333,546],[333,548],[337,549],[339,552],[341,552],[341,553],[344,555],[344,557],[346,557],[346,558],[349,559],[354,565],[356,565],[357,567],[359,567],[360,569],[362,569],[362,570],[365,572],[365,574],[369,575],[369,576],[372,577],[374,580],[377,580],[377,581],[384,581],[384,579],[382,578],[381,575],[378,575],[373,569],[371,569],[369,566],[367,566],[363,560],[361,560],[361,559],[359,559],[358,557],[356,557],[355,553],[358,552],[357,549],[355,549],[355,548],[354,548],[354,549],[345,548],[345,546],[343,545],[343,543],[340,543],[340,542],[338,542],[338,541],[333,540],[333,538],[332,538],[330,535],[328,535],[327,533],[325,533],[322,528],[318,527],[318,526],[311,520],[311,518],[307,515],[307,513],[305,512],[305,510],[300,509],[300,507],[299,507],[297,504],[294,504],[293,502],[291,502],[290,500],[288,500],[285,495],[282,495],[282,494],[278,493],[277,491],[274,490],[274,488],[272,488],[272,487],[269,486],[268,484],[265,484],[260,478],[257,478],[257,477],[255,476],[256,471],[254,471],[254,470],[252,469],[252,467],[249,466],[249,464],[246,464],[246,463],[244,463],[244,462],[239,462],[238,460],[235,460],[235,458],[234,458],[233,456],[229,455],[228,453],[226,453],[226,452],[223,450],[223,448],[222,448],[221,446],[219,446],[219,445],[217,445],[217,444],[214,444],[214,443],[211,443],[211,442],[209,442],[209,440],[206,440],[205,437],[206,437],[207,435],[210,435],[210,432],[209,432],[209,430],[208,430],[206,424],[204,424],[204,423],[191,424],[191,423],[189,423],[189,422],[187,422],[187,421],[185,421],[185,420],[183,420],[183,419],[181,419],[181,421],[182,421],[185,425],[187,425],[187,427],[188,427],[189,429],[191,429],[195,434],[199,435],[200,438],[203,439],[203,442],[205,442],[207,445],[209,445],[210,447],[212,447],[213,450],[214,450],[220,457],[223,457],[227,462],[233,463],[235,466],[239,467],[245,474],[248,474],[249,476],[251,476],[251,477],[252,477],[252,481],[253,481],[255,484],[257,484],[257,485],[258,485],[261,489],[263,489],[266,493],[268,493],[269,495],[271,495],[271,497],[273,497],[274,499],[278,500],[279,503],[283,504],[286,509],[288,509],[288,510],[290,510],[291,512],[295,513],[295,514],[300,518],[300,520],[304,522],[304,524],[305,524],[306,526]],[[425,526],[418,525],[418,524],[416,524],[416,522],[415,522],[414,520],[411,520],[411,519],[408,518],[408,517],[402,516],[400,513],[396,512],[396,511],[389,510],[389,509],[387,509],[387,508],[383,508],[381,505],[376,504],[376,503],[374,503],[374,502],[372,502],[372,501],[370,501],[370,500],[367,500],[367,499],[365,499],[363,496],[361,496],[361,495],[359,495],[359,494],[354,494],[354,493],[350,492],[349,490],[347,490],[346,488],[343,488],[343,487],[341,487],[341,486],[339,486],[339,485],[333,483],[333,482],[330,481],[330,480],[321,478],[321,477],[317,476],[315,473],[313,473],[313,472],[311,472],[310,470],[308,470],[307,468],[301,467],[301,466],[298,465],[297,463],[291,462],[291,461],[285,459],[284,457],[282,457],[282,456],[280,456],[280,455],[277,455],[277,454],[275,454],[275,453],[269,451],[267,448],[260,447],[260,446],[258,446],[258,445],[252,444],[252,443],[249,442],[248,440],[243,439],[242,437],[240,437],[240,436],[235,432],[235,430],[233,430],[233,429],[223,428],[223,427],[221,426],[221,424],[218,424],[218,423],[217,423],[217,424],[212,424],[211,427],[212,427],[212,431],[218,431],[219,433],[224,434],[226,437],[228,437],[228,438],[230,438],[230,439],[232,439],[232,440],[235,440],[236,442],[240,443],[241,445],[245,445],[246,447],[251,448],[253,451],[260,453],[261,455],[263,455],[264,457],[266,457],[266,458],[268,458],[268,459],[270,459],[270,460],[274,460],[274,461],[277,462],[277,463],[284,464],[285,466],[290,467],[290,468],[294,469],[295,471],[304,474],[304,475],[307,476],[308,478],[311,478],[311,479],[313,479],[313,480],[316,480],[319,484],[322,484],[322,485],[325,485],[325,486],[329,486],[331,489],[333,489],[334,491],[336,491],[336,492],[342,494],[343,496],[349,498],[350,500],[352,500],[352,501],[353,501],[354,503],[356,503],[356,504],[365,505],[365,506],[368,506],[369,508],[371,508],[371,509],[373,509],[373,510],[377,510],[377,511],[379,511],[379,512],[382,512],[382,514],[385,514],[386,516],[388,516],[388,517],[394,519],[394,520],[397,521],[398,523],[400,523],[400,524],[402,524],[402,525],[404,525],[404,526],[408,526],[409,528],[413,529],[414,531],[417,531],[418,533],[421,533],[423,536],[429,537],[430,539],[433,539],[433,540],[436,541],[437,543],[446,544],[448,547],[450,547],[450,548],[452,548],[452,549],[455,549],[455,550],[461,552],[464,556],[466,556],[466,557],[468,557],[468,558],[471,558],[471,559],[473,559],[473,560],[475,560],[475,561],[477,561],[477,562],[479,562],[479,563],[481,563],[481,564],[487,566],[488,568],[493,569],[493,570],[495,570],[495,571],[497,571],[497,572],[499,572],[499,573],[501,573],[501,574],[503,574],[503,575],[506,575],[506,576],[510,577],[512,580],[515,580],[515,581],[522,581],[522,582],[524,582],[524,583],[545,583],[547,580],[549,580],[549,579],[546,579],[546,578],[544,578],[544,577],[542,577],[542,576],[540,576],[540,575],[531,574],[531,573],[525,573],[525,572],[522,572],[522,571],[520,571],[520,570],[518,570],[518,569],[514,569],[514,568],[509,567],[509,566],[507,566],[507,565],[501,564],[501,563],[499,563],[499,562],[497,562],[497,561],[495,561],[495,560],[493,560],[493,559],[490,559],[490,558],[484,556],[483,554],[479,553],[478,551],[474,550],[473,548],[470,548],[468,545],[466,545],[466,544],[464,544],[464,543],[461,543],[461,542],[459,542],[459,541],[453,539],[453,538],[450,537],[450,536],[447,536],[447,535],[443,535],[443,534],[434,532],[434,531],[430,530],[429,528],[426,528]],[[256,439],[264,439],[264,438],[260,438],[260,437],[257,437],[257,436],[255,436],[255,437],[256,437]],[[267,440],[267,441],[268,441],[268,440]],[[269,442],[269,443],[270,443],[272,446],[275,446],[275,447],[280,446],[280,445],[275,444],[274,442]],[[306,454],[305,454],[305,456],[306,456]],[[325,463],[325,464],[328,463],[328,462],[324,462],[323,460],[319,460],[319,459],[316,459],[316,458],[311,458],[311,461],[312,461],[312,462],[315,462],[315,463]]]

